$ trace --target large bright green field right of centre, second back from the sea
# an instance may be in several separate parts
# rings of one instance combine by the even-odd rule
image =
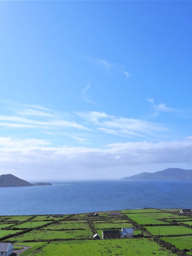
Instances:
[[[170,216],[173,216],[172,214],[168,212],[162,212],[162,213],[138,213],[138,214],[125,214],[127,215],[130,219],[134,220],[135,222],[139,224],[161,224],[161,223],[166,223],[161,220],[157,219],[163,219],[163,218],[169,218]],[[176,215],[174,215],[176,216]],[[174,217],[173,216],[173,217]]]

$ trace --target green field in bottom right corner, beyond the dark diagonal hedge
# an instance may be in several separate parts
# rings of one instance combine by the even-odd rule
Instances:
[[[192,250],[192,236],[170,236],[161,237],[161,239],[175,245],[180,250]]]

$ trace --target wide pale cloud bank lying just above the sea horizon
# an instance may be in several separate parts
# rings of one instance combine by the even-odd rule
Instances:
[[[192,164],[192,140],[113,143],[100,149],[54,148],[43,140],[0,138],[0,146],[0,174],[14,170],[17,175],[21,172],[28,175],[30,170],[31,177],[36,175],[36,171],[41,171],[42,177],[47,178],[74,178],[76,175],[86,178],[86,170],[92,177],[96,175],[94,170],[100,170],[102,178],[105,170],[110,178],[118,177],[119,172],[115,170],[126,170],[134,165]]]

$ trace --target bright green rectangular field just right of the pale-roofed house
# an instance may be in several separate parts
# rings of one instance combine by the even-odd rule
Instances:
[[[154,227],[146,227],[148,231],[157,236],[166,236],[166,235],[182,235],[182,234],[192,234],[191,228],[186,228],[182,226],[154,226]],[[191,237],[192,239],[192,237]]]

